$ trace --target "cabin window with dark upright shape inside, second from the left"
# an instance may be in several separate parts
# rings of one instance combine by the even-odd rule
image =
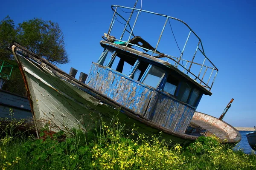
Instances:
[[[125,56],[119,57],[117,54],[115,57],[113,57],[108,67],[129,76],[131,74],[132,67],[134,66],[135,62],[135,58]]]

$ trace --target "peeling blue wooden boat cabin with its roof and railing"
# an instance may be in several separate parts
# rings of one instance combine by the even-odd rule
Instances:
[[[209,81],[204,82],[200,76],[195,76],[190,68],[187,68],[188,63],[192,65],[195,62],[193,62],[193,59],[188,61],[182,58],[185,48],[183,48],[181,57],[175,58],[160,53],[157,51],[157,47],[154,48],[141,37],[134,36],[131,27],[131,30],[128,31],[127,41],[123,41],[122,36],[120,39],[110,36],[114,20],[117,18],[116,16],[120,16],[117,7],[128,8],[116,6],[114,9],[113,7],[115,6],[112,6],[114,16],[109,32],[105,34],[104,40],[100,42],[104,51],[97,63],[93,62],[91,65],[85,83],[158,125],[179,133],[185,133],[203,94],[212,94],[210,92],[212,85],[208,85]],[[137,17],[140,12],[143,12],[140,9],[129,9],[139,11]],[[173,19],[173,17],[166,15],[164,17],[167,17],[165,27],[167,20]],[[125,21],[125,26],[128,26],[130,20]],[[134,22],[136,23],[136,20]],[[127,28],[124,28],[123,33],[127,31]],[[191,32],[194,33],[190,29],[189,35]],[[199,44],[201,44],[200,39],[196,51],[198,49],[202,51]],[[148,51],[152,54],[148,54]],[[167,58],[167,61],[164,61],[163,58]],[[174,64],[169,62],[168,59]],[[186,61],[186,66],[180,64],[180,61],[183,62],[183,60]],[[205,60],[208,60],[206,56]],[[206,70],[212,69],[212,72],[218,72],[215,66],[209,67],[204,63],[199,65],[206,68]],[[180,70],[178,66],[181,66],[184,70]]]

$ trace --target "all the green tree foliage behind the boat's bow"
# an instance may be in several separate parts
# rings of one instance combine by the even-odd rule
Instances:
[[[12,57],[12,53],[6,49],[13,40],[50,62],[56,64],[69,62],[64,36],[58,23],[34,18],[15,26],[14,21],[7,16],[0,21],[0,59],[12,64],[14,69],[10,80],[3,85],[3,90],[20,95],[26,94],[17,62]]]

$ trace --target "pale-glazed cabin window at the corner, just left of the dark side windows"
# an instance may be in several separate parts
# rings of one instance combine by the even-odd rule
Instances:
[[[153,88],[157,88],[157,85],[159,84],[160,80],[162,79],[163,74],[164,74],[163,69],[152,65],[149,68],[148,74],[145,76],[143,83],[146,85],[150,85]]]

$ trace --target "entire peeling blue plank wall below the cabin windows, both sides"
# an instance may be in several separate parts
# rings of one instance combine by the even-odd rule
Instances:
[[[93,63],[85,82],[127,108],[159,125],[185,133],[195,108],[125,75]]]

